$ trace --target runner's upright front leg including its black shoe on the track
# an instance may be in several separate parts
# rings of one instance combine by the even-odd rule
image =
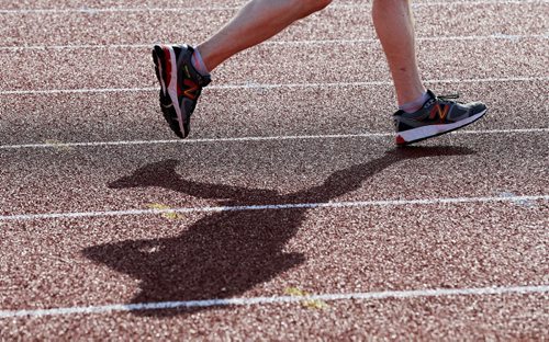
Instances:
[[[400,110],[394,113],[396,144],[408,145],[462,128],[486,114],[481,102],[437,96],[419,78],[411,0],[373,0],[373,25],[385,52]],[[467,58],[467,56],[462,56]]]

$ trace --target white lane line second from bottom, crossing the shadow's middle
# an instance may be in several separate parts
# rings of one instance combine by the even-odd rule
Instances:
[[[457,197],[457,198],[427,198],[427,200],[388,200],[388,201],[358,201],[358,202],[327,202],[327,203],[290,203],[290,204],[265,204],[265,205],[240,205],[240,206],[213,206],[213,207],[182,207],[168,209],[130,209],[130,210],[105,210],[105,212],[75,212],[56,214],[21,214],[0,216],[0,221],[57,219],[57,218],[82,218],[82,217],[120,217],[143,216],[170,213],[224,213],[247,210],[283,210],[283,209],[313,209],[313,208],[350,208],[370,206],[401,206],[401,205],[434,205],[434,204],[460,204],[460,203],[493,203],[493,202],[529,202],[549,201],[549,195],[531,196],[491,196],[491,197]]]

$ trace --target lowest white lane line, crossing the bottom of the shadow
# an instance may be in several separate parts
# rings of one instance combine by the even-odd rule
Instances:
[[[493,286],[493,287],[470,287],[470,288],[427,288],[408,290],[383,290],[368,293],[344,293],[323,294],[311,296],[272,296],[272,297],[250,297],[250,298],[217,298],[204,300],[181,300],[181,301],[156,301],[139,304],[114,304],[103,306],[80,306],[53,309],[29,309],[29,310],[0,310],[0,319],[8,318],[38,318],[45,316],[68,316],[68,315],[108,315],[112,312],[128,312],[143,310],[165,310],[184,308],[210,308],[224,306],[254,306],[272,304],[302,303],[305,300],[383,300],[383,299],[414,299],[425,297],[456,297],[456,296],[502,296],[502,295],[527,295],[546,294],[549,285],[529,286]]]

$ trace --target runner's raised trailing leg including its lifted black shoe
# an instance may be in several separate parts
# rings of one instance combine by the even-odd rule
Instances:
[[[198,53],[188,45],[156,45],[153,59],[160,82],[160,109],[180,138],[190,130],[190,117],[210,75],[200,72],[192,58],[212,71],[235,54],[257,45],[294,21],[328,5],[332,0],[251,0],[215,35],[200,44]]]

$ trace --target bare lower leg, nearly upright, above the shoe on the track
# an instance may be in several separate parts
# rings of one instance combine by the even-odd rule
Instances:
[[[415,55],[415,37],[408,0],[374,0],[373,25],[391,69],[399,105],[425,91]]]

